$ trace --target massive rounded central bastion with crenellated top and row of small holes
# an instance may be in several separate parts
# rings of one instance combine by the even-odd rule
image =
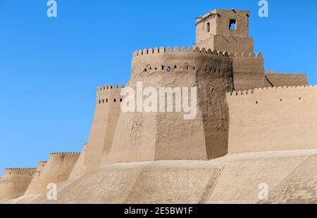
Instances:
[[[121,113],[109,162],[208,160],[227,153],[225,92],[233,89],[228,53],[198,47],[145,49],[134,53],[131,72],[133,89],[137,82],[156,90],[197,87],[197,117],[184,120],[184,113]]]

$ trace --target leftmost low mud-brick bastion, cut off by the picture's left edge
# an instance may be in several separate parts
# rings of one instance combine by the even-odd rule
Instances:
[[[5,169],[0,180],[0,203],[22,196],[34,177],[35,170],[35,168]]]

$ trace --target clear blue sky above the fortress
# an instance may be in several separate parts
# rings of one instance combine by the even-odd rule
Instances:
[[[0,173],[35,167],[50,152],[80,151],[89,136],[95,90],[125,84],[132,52],[190,46],[194,18],[213,8],[251,11],[249,34],[266,70],[306,72],[317,84],[317,1],[0,0]]]

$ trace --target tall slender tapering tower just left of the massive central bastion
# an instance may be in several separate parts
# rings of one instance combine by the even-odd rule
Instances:
[[[97,104],[89,135],[84,167],[81,174],[99,169],[101,158],[106,158],[120,115],[123,85],[101,86],[97,89]],[[78,174],[79,175],[79,174]]]

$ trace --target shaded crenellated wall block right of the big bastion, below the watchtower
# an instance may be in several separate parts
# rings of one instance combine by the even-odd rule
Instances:
[[[236,91],[266,87],[264,62],[261,53],[235,53],[232,58],[233,79]]]

